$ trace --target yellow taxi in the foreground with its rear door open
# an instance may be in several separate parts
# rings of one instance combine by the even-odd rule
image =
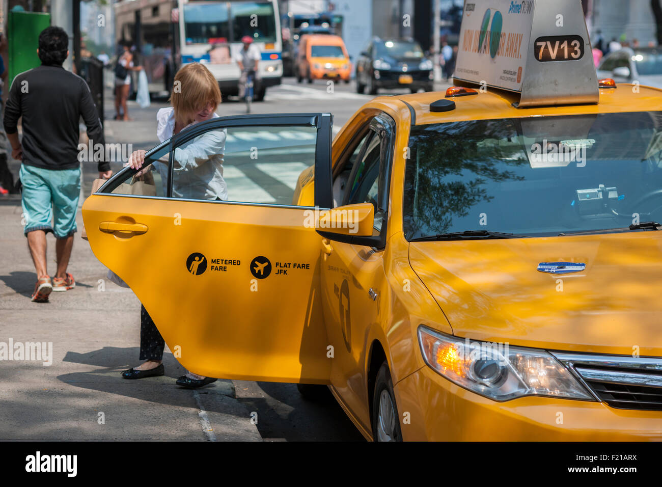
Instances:
[[[332,144],[196,124],[87,198],[89,243],[187,369],[328,386],[366,439],[662,439],[662,91],[597,80],[579,2],[474,5],[446,93]]]

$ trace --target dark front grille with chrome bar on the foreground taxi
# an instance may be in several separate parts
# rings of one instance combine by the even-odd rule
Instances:
[[[662,411],[662,358],[553,353],[600,402]]]

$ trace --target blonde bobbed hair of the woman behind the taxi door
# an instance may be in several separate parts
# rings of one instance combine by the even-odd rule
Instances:
[[[220,88],[214,75],[199,62],[187,64],[175,74],[170,103],[175,109],[175,121],[179,125],[189,125],[195,113],[213,105],[216,110],[220,103]]]

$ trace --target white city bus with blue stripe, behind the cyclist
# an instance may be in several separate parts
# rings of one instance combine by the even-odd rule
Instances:
[[[281,23],[277,0],[179,1],[181,64],[201,62],[214,74],[224,95],[238,94],[240,71],[234,61],[241,38],[251,36],[262,59],[258,64],[260,89],[281,83]]]

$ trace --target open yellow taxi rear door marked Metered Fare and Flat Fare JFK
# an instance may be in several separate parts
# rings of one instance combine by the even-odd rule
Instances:
[[[145,168],[167,161],[152,172],[151,191],[124,168],[85,201],[93,252],[136,293],[192,372],[328,383],[321,238],[310,225],[314,207],[292,205],[287,191],[314,163],[315,203],[331,207],[331,127],[328,113],[199,123],[148,152]],[[173,169],[177,150],[218,135],[226,138],[228,201],[192,198],[185,187],[193,183]]]

